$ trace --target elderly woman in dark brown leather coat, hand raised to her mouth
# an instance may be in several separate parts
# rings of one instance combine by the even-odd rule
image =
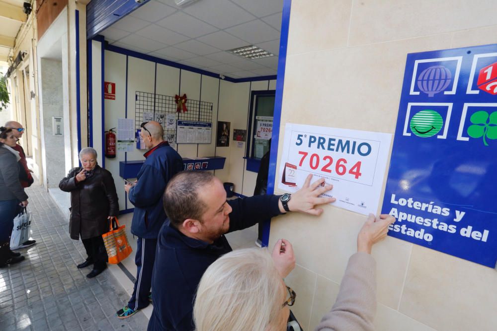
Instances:
[[[109,171],[97,165],[96,157],[96,150],[83,148],[82,166],[73,168],[59,184],[62,191],[71,193],[69,233],[74,240],[81,237],[88,256],[78,268],[93,265],[93,270],[86,275],[88,278],[107,267],[102,234],[109,231],[109,220],[119,213],[114,179]]]

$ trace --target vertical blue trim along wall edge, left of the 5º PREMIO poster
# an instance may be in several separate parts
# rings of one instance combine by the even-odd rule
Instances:
[[[280,51],[278,59],[278,78],[276,79],[276,96],[274,98],[273,134],[271,140],[271,151],[269,153],[269,174],[267,177],[267,194],[274,193],[274,181],[276,178],[276,160],[278,158],[279,131],[281,125],[281,105],[283,102],[283,83],[285,81],[286,51],[288,46],[288,28],[290,24],[290,9],[292,0],[283,0],[283,15],[281,18]],[[269,242],[270,221],[264,222],[262,232],[262,246]]]

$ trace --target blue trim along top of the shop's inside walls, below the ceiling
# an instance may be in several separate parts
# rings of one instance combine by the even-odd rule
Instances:
[[[196,73],[200,73],[200,74],[205,75],[205,76],[220,79],[219,73],[195,68],[193,66],[182,65],[180,63],[172,62],[169,60],[164,60],[164,59],[157,58],[155,56],[148,55],[148,54],[143,54],[140,52],[127,50],[125,48],[121,48],[121,47],[117,47],[117,46],[113,46],[113,45],[108,45],[106,50],[111,51],[111,52],[115,52],[115,53],[119,53],[119,54],[123,54],[123,55],[127,55],[127,56],[132,56],[132,57],[142,59],[142,60],[147,60],[147,61],[159,63],[161,65],[172,66],[175,68],[179,68],[179,69],[183,69],[183,70],[187,70],[187,71],[191,71],[191,72],[196,72]],[[273,79],[277,79],[277,76],[272,75],[272,76],[259,76],[259,77],[247,77],[247,78],[231,78],[231,77],[226,76],[224,78],[224,80],[232,82],[232,83],[242,83],[242,82],[259,81],[259,80],[273,80]]]

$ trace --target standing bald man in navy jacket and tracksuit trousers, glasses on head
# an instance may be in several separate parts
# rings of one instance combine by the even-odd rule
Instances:
[[[131,299],[116,313],[120,319],[133,316],[150,304],[157,237],[166,220],[162,196],[169,179],[183,170],[181,156],[164,141],[162,125],[151,121],[142,123],[140,127],[140,136],[148,149],[144,154],[145,163],[135,185],[124,186],[129,200],[135,205],[131,233],[138,237],[135,257],[137,275]]]

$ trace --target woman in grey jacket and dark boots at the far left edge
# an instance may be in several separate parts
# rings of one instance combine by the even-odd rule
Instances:
[[[19,181],[19,153],[12,129],[0,127],[0,267],[24,260],[10,250],[14,217],[27,206],[28,196]]]

